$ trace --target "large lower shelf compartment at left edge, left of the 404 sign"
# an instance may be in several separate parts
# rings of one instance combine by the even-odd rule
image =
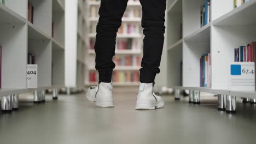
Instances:
[[[27,26],[0,25],[2,88],[27,88]]]

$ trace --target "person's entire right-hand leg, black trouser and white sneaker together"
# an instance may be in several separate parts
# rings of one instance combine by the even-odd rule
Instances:
[[[166,0],[140,0],[142,5],[142,27],[144,38],[143,58],[140,69],[139,93],[136,110],[154,110],[164,106],[164,100],[153,92],[156,74],[160,73],[160,62],[165,33]]]

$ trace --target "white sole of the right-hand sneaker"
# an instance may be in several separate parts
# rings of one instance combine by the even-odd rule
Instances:
[[[156,104],[149,104],[148,101],[137,101],[135,110],[155,110],[164,106],[164,100]]]

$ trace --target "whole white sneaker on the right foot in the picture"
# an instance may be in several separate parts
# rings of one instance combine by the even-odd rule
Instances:
[[[164,106],[164,100],[153,92],[153,83],[141,83],[136,110],[154,110]]]

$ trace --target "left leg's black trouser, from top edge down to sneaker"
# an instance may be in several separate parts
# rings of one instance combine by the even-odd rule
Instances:
[[[101,0],[98,12],[100,19],[96,28],[96,69],[99,74],[99,82],[111,82],[112,71],[115,64],[112,61],[115,55],[115,39],[121,19],[128,0]]]

